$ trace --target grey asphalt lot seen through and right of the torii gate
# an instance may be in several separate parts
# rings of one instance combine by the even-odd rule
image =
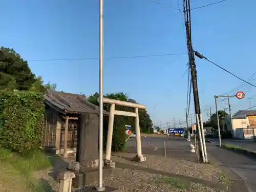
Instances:
[[[196,155],[190,152],[190,142],[179,136],[141,137],[142,154],[164,156],[164,141],[166,157],[197,161]],[[127,141],[126,150],[136,153],[136,138],[130,138]]]

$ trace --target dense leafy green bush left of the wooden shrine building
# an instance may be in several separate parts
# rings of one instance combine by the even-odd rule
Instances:
[[[41,145],[44,95],[25,91],[0,91],[0,146],[28,154]]]

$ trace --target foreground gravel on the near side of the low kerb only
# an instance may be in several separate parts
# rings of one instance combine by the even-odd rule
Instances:
[[[50,173],[50,172],[49,172]],[[46,191],[50,191],[51,188],[54,191],[58,191],[58,183],[53,180],[46,171],[42,170],[39,173],[38,179],[40,179],[41,184],[46,188]],[[162,176],[156,174],[150,174],[143,172],[141,170],[131,170],[131,169],[122,169],[116,168],[114,170],[114,176],[106,178],[104,180],[104,186],[117,188],[115,192],[128,192],[128,191],[164,191],[164,192],[227,192],[226,190],[218,190],[210,187],[203,186],[198,183],[190,183],[187,186],[182,181],[168,182],[161,181],[158,178]],[[97,186],[97,182],[90,183],[88,186]],[[73,188],[73,191],[82,191],[77,188]]]

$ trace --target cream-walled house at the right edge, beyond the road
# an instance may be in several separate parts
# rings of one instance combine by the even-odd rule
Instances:
[[[256,135],[256,110],[239,110],[232,116],[234,138],[250,139]]]

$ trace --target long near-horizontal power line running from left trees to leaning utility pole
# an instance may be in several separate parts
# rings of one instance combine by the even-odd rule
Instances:
[[[162,57],[170,55],[186,55],[186,53],[167,53],[167,54],[156,54],[156,55],[131,55],[121,57],[106,57],[106,59],[125,59],[125,58],[140,58],[140,57]],[[27,61],[61,61],[61,60],[96,60],[98,57],[83,57],[83,58],[57,58],[57,59],[28,59]]]

